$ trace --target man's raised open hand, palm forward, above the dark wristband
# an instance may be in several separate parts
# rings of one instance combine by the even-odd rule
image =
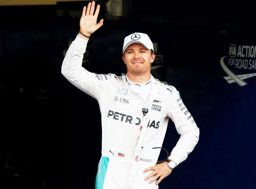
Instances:
[[[88,3],[87,7],[84,6],[83,14],[80,19],[80,32],[88,37],[103,25],[103,19],[101,19],[97,24],[100,5],[97,5],[95,13],[94,13],[94,8],[95,8],[94,1],[92,3],[91,2]]]

